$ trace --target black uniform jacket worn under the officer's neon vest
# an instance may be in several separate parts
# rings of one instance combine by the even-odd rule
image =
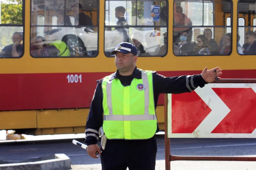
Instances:
[[[130,76],[121,76],[118,70],[112,75],[111,79],[119,79],[123,86],[129,86],[133,78],[141,79],[141,72],[137,67],[134,69],[133,74]],[[111,80],[110,79],[110,80]],[[99,135],[97,131],[103,125],[103,106],[102,106],[102,86],[103,79],[97,81],[97,87],[94,92],[89,115],[86,123],[86,137],[85,143],[87,145],[97,144]],[[185,93],[195,90],[198,86],[203,87],[207,84],[202,78],[201,74],[193,76],[177,76],[177,77],[164,77],[157,72],[153,72],[153,88],[154,88],[154,101],[157,107],[157,101],[160,93]],[[157,132],[159,128],[157,126]],[[156,133],[157,133],[156,132]]]

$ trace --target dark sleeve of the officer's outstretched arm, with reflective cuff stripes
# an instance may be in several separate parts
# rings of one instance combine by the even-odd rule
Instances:
[[[154,90],[157,93],[185,93],[192,92],[198,86],[203,87],[207,84],[201,74],[192,76],[164,77],[157,72],[153,73]]]

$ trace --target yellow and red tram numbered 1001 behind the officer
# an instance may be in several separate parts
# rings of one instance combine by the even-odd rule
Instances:
[[[84,133],[96,81],[116,71],[110,52],[123,41],[138,48],[138,68],[166,77],[207,66],[256,79],[255,0],[2,0],[0,8],[0,129]],[[164,129],[164,95],[156,112]]]

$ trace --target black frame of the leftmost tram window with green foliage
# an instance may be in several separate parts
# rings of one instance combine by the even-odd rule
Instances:
[[[23,57],[24,56],[24,54],[25,54],[25,48],[24,48],[24,37],[25,37],[25,1],[26,0],[22,0],[22,25],[20,25],[20,24],[0,24],[0,26],[1,27],[14,27],[14,26],[16,26],[16,27],[23,27],[23,31],[22,31],[22,41],[23,41],[23,43],[22,43],[22,54],[21,54],[21,56],[20,57],[0,57],[0,59],[17,59],[17,58],[21,58],[21,57]],[[1,2],[0,2],[1,3]],[[1,50],[2,51],[2,50]]]

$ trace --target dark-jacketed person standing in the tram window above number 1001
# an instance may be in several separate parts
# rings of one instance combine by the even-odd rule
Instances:
[[[74,3],[71,6],[72,12],[75,17],[75,25],[92,26],[92,19],[83,12],[82,5],[80,3]]]

